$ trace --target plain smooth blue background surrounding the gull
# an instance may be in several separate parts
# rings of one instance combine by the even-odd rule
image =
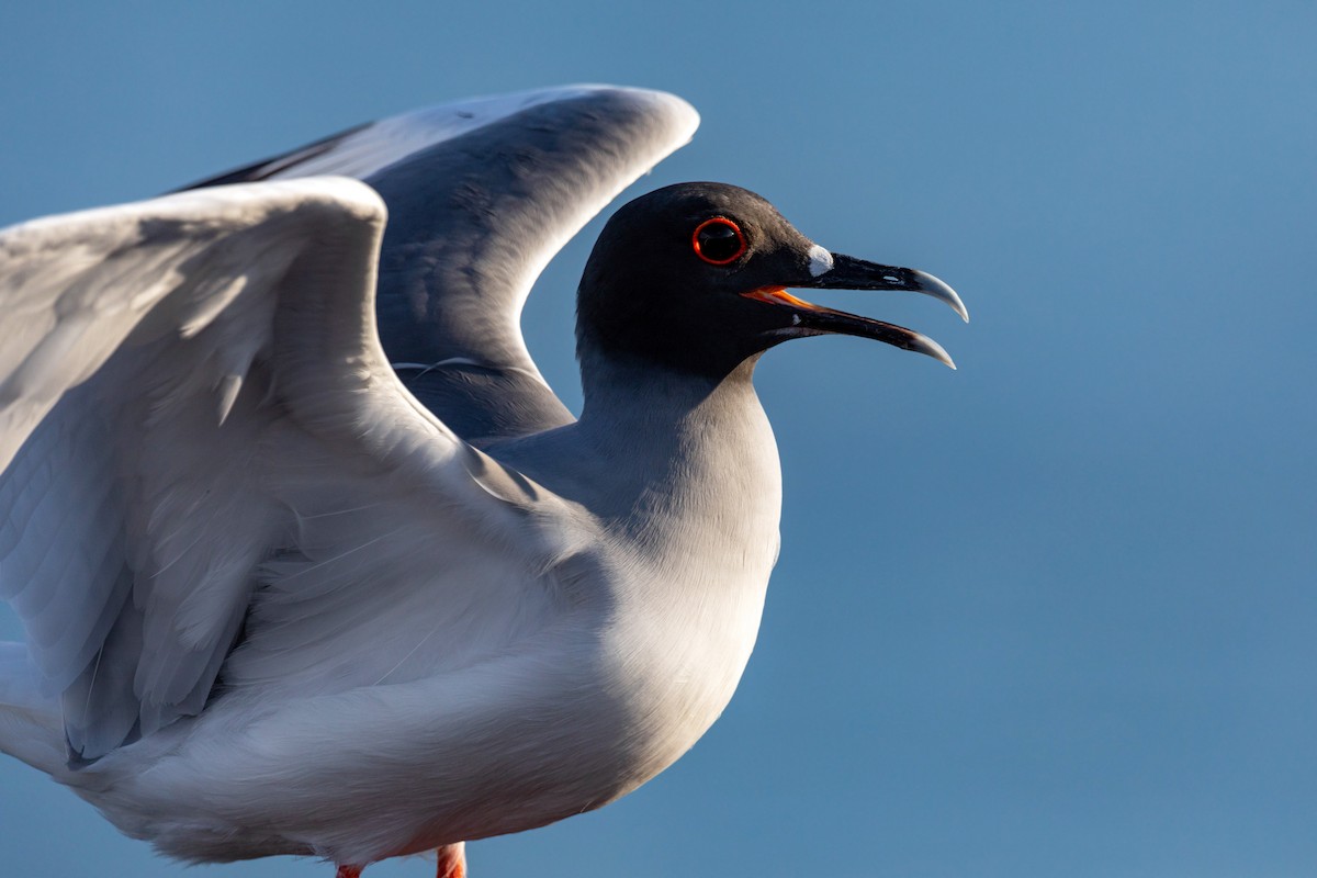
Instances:
[[[0,12],[0,222],[614,82],[703,115],[632,194],[735,182],[968,303],[827,296],[959,373],[848,338],[765,358],[786,511],[740,692],[628,799],[474,844],[475,878],[1317,874],[1317,7],[37,5]],[[527,309],[573,405],[597,230]],[[12,760],[0,862],[180,871]]]

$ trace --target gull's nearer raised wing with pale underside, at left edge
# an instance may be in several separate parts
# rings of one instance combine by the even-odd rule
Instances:
[[[528,571],[565,532],[556,499],[379,346],[383,225],[370,188],[317,178],[0,232],[0,598],[75,757],[217,681],[415,677],[554,612]]]

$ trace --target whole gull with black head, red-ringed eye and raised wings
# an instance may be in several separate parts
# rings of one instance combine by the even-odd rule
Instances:
[[[760,355],[932,340],[919,292],[722,183],[644,195],[578,288],[579,417],[525,349],[548,259],[687,142],[670,95],[398,116],[0,232],[0,750],[188,862],[354,878],[598,808],[732,696],[777,559]]]

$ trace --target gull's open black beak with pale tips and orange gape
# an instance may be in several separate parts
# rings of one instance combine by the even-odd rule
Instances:
[[[822,247],[815,247],[810,255],[810,279],[793,283],[793,287],[809,287],[814,290],[905,290],[909,292],[922,292],[946,301],[965,323],[969,323],[969,312],[965,311],[965,305],[960,301],[956,291],[931,274],[915,269],[897,269],[865,262],[864,259],[842,255],[840,253],[827,253]],[[785,287],[760,287],[741,295],[747,299],[790,309],[790,325],[774,330],[786,337],[839,333],[859,336],[861,338],[874,338],[903,350],[927,354],[952,369],[956,367],[942,345],[905,326],[815,305],[790,295]]]

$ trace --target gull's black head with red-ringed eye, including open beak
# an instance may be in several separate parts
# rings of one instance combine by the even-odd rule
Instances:
[[[722,378],[788,338],[844,333],[952,366],[930,338],[810,304],[788,287],[923,292],[968,320],[932,275],[828,253],[740,187],[680,183],[623,205],[603,228],[578,291],[577,353]]]

